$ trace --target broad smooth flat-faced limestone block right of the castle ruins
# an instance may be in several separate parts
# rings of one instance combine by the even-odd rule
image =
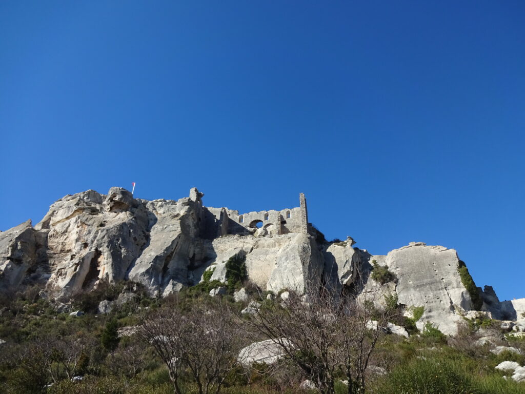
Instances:
[[[437,326],[444,334],[457,333],[461,315],[473,309],[467,289],[458,275],[459,259],[454,249],[411,243],[373,256],[397,277],[395,291],[400,304],[424,306],[423,318],[416,324],[422,329],[426,322]]]

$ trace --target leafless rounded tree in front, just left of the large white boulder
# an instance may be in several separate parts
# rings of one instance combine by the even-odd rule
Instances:
[[[177,394],[183,368],[190,372],[199,394],[218,393],[243,345],[240,325],[221,303],[196,302],[188,312],[170,303],[144,318],[139,335],[170,370]]]

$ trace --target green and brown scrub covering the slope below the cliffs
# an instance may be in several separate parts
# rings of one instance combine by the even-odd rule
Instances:
[[[230,280],[233,288],[243,283],[243,265],[230,261],[228,287]],[[345,315],[331,309],[330,298],[305,308],[293,291],[283,308],[251,285],[262,305],[256,314],[241,315],[247,303],[208,295],[215,285],[211,275],[204,274],[197,290],[162,299],[138,284],[103,284],[90,294],[61,300],[71,304],[66,309],[39,288],[0,294],[0,338],[5,341],[0,344],[0,392],[299,394],[305,392],[301,382],[310,379],[321,392],[334,394],[525,393],[525,383],[494,369],[506,360],[523,365],[525,339],[507,335],[523,355],[492,354],[476,339],[487,330],[501,331],[482,314],[465,320],[459,336],[450,338],[429,323],[418,333],[415,323],[424,308],[412,307],[412,317],[404,317],[395,295],[365,299]],[[97,313],[100,300],[117,300],[123,292],[135,297],[110,313]],[[85,315],[69,315],[81,305]],[[369,329],[371,320],[379,329]],[[382,328],[390,322],[413,325],[411,333],[417,335],[386,335]],[[270,337],[290,338],[295,348],[272,367],[237,364],[240,348]],[[370,366],[388,374],[374,373]]]

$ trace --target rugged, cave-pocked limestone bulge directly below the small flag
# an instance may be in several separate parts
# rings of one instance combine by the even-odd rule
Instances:
[[[148,242],[148,223],[144,204],[127,190],[68,195],[35,226],[47,235],[47,264],[38,273],[67,294],[91,289],[100,279],[125,279]]]

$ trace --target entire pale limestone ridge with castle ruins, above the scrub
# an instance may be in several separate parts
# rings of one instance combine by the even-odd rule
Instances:
[[[293,224],[299,208],[268,211],[248,224],[244,218],[258,213],[209,208],[202,196],[192,189],[178,201],[146,201],[122,188],[67,195],[35,226],[0,232],[0,286],[40,284],[58,298],[103,281],[134,281],[166,296],[203,280],[226,282],[226,263],[237,256],[250,281],[275,294],[293,287],[315,296],[321,285],[381,292],[395,294],[420,329],[432,323],[455,334],[457,322],[479,312],[525,329],[525,299],[500,302],[491,287],[477,288],[453,249],[410,243],[374,256],[352,247],[350,237],[328,242],[309,223],[302,231]]]

